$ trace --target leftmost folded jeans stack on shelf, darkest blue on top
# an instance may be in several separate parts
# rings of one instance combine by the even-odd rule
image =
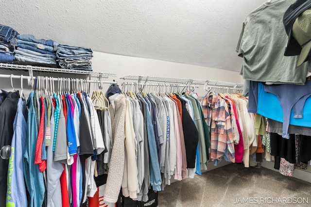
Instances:
[[[19,35],[13,28],[0,25],[0,63],[13,63],[16,36]]]

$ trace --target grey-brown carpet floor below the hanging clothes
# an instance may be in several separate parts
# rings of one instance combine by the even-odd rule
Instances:
[[[174,182],[158,195],[158,207],[232,206],[309,207],[311,183],[263,167],[233,163]]]

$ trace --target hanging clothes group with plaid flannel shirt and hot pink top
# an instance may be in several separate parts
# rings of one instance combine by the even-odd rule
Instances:
[[[230,162],[243,161],[245,167],[257,164],[256,153],[260,156],[263,150],[261,139],[256,136],[255,114],[247,112],[247,104],[248,99],[239,93],[209,92],[201,99],[210,130],[210,159],[214,165],[223,157]]]

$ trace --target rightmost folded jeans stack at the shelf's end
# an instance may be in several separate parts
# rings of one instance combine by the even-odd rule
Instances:
[[[91,48],[54,42],[54,49],[56,50],[56,61],[61,68],[92,71],[90,59],[93,57],[93,51]]]

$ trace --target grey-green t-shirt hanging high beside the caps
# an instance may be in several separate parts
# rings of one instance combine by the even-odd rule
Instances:
[[[295,0],[265,2],[243,22],[236,52],[243,57],[244,79],[303,85],[308,65],[297,67],[299,56],[284,56],[288,36],[283,16]]]

